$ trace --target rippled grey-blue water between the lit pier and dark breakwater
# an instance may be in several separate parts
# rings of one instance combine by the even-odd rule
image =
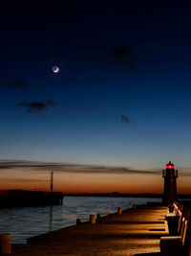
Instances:
[[[0,233],[11,233],[12,243],[26,243],[27,238],[75,224],[77,218],[90,214],[114,213],[117,207],[160,201],[159,198],[75,198],[65,197],[63,205],[0,210]]]

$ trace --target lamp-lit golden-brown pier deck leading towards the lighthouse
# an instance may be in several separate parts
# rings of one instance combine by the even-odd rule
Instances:
[[[159,253],[159,239],[169,234],[167,207],[140,205],[119,214],[79,223],[13,244],[11,255],[119,256]],[[148,254],[148,255],[149,255]]]

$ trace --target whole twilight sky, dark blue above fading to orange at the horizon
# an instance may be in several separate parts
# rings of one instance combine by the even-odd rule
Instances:
[[[171,160],[191,193],[190,12],[184,1],[2,5],[2,189],[47,189],[54,171],[66,193],[160,193]]]

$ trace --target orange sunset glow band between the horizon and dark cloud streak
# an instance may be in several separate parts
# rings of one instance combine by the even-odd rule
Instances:
[[[50,191],[50,173],[48,171],[6,170],[0,174],[0,188]],[[191,194],[191,177],[178,178],[178,193]],[[54,172],[53,191],[65,194],[80,193],[163,193],[161,175],[148,174],[70,174]]]

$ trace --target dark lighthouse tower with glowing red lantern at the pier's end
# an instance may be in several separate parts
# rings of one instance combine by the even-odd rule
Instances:
[[[164,178],[163,202],[172,203],[177,200],[177,177],[178,171],[174,169],[171,161],[166,165],[166,169],[162,170]]]

